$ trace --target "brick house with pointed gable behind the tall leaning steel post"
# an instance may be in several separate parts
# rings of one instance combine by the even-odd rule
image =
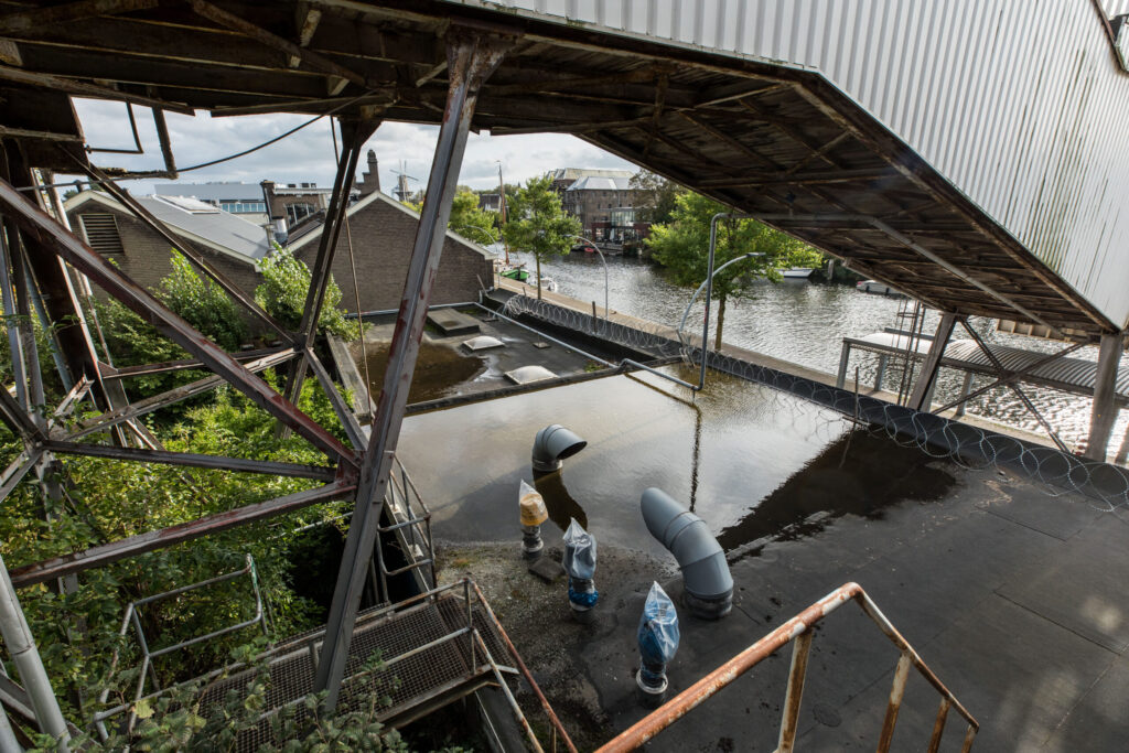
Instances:
[[[404,278],[408,275],[419,214],[379,191],[355,203],[347,214],[352,233],[360,309],[378,312],[397,308]],[[301,233],[297,239],[291,236],[288,247],[295,257],[309,265],[317,256],[321,237],[322,224],[318,221],[316,227]],[[491,286],[493,260],[493,254],[482,246],[447,230],[439,274],[431,290],[431,304],[478,300],[481,287]],[[343,294],[341,305],[349,312],[356,312],[349,234],[343,228],[338,238],[331,271]]]

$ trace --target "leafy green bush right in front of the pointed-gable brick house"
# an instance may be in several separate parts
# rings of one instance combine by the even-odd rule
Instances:
[[[260,263],[259,271],[263,282],[255,288],[255,300],[282,326],[297,330],[309,292],[309,268],[300,259],[295,259],[289,249],[277,246]],[[325,287],[325,301],[317,327],[340,338],[357,334],[357,327],[345,321],[344,309],[341,308],[341,288],[332,275]]]

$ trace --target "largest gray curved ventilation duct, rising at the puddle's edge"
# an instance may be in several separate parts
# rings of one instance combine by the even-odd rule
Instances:
[[[679,561],[683,603],[691,614],[717,620],[733,610],[733,576],[725,550],[700,517],[662,489],[647,489],[639,501],[650,535]]]

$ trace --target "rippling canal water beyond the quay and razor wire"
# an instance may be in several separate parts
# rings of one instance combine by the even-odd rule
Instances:
[[[520,253],[511,253],[510,257],[516,262],[526,262],[528,269],[534,269],[532,257]],[[575,253],[554,257],[542,264],[542,270],[546,277],[555,280],[559,292],[603,305],[604,268],[596,254]],[[638,259],[609,256],[607,271],[609,304],[613,310],[677,326],[692,290],[672,284],[663,278],[657,266]],[[881,332],[887,326],[905,326],[904,322],[898,321],[900,301],[898,298],[859,292],[849,284],[806,280],[765,282],[756,288],[752,297],[728,301],[723,336],[734,345],[835,374],[843,338],[864,336]],[[689,322],[700,327],[701,317],[702,306],[699,305]],[[714,317],[716,321],[716,306]],[[1041,352],[1054,352],[1062,348],[1061,343],[1039,338],[998,333],[990,319],[973,318],[972,323],[989,342]],[[925,332],[931,334],[936,326],[937,314],[929,312]],[[968,334],[957,326],[954,339],[966,338]],[[1097,349],[1083,348],[1071,356],[1096,360]],[[873,384],[877,357],[852,353],[851,377],[856,366],[859,367],[863,383]],[[887,369],[885,388],[896,393],[900,378],[899,369]],[[973,389],[988,382],[987,378],[977,377]],[[955,399],[960,394],[960,375],[942,370],[936,400],[947,402]],[[1024,392],[1068,446],[1076,446],[1085,439],[1089,426],[1088,399],[1032,386],[1025,386]],[[971,401],[968,411],[1045,436],[1038,420],[1007,388],[994,389]],[[1114,428],[1114,447],[1124,435],[1127,424],[1129,411],[1122,411]]]

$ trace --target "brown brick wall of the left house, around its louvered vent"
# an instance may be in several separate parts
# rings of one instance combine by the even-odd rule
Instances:
[[[130,275],[138,284],[149,290],[157,290],[161,278],[167,277],[173,271],[170,261],[172,249],[168,243],[132,214],[110,209],[104,204],[93,201],[86,202],[67,213],[75,234],[80,238],[82,237],[82,226],[79,217],[86,213],[113,214],[116,218],[117,234],[121,236],[122,247],[125,249],[125,253],[107,254],[106,257],[117,264],[119,269]],[[174,237],[180,237],[176,234],[173,235]],[[254,294],[255,286],[259,284],[259,273],[255,272],[254,266],[212,251],[200,243],[192,244],[192,247],[208,259],[212,265],[233,282],[244,290]],[[94,289],[97,296],[102,298],[106,297],[106,294],[97,286],[94,286]]]

